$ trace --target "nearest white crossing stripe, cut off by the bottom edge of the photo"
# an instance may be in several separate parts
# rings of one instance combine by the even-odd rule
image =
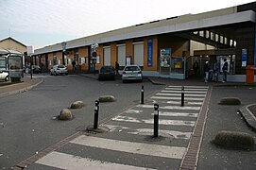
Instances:
[[[137,167],[137,166],[131,166],[126,164],[112,163],[109,161],[97,161],[97,160],[92,160],[88,158],[81,158],[75,155],[69,155],[69,154],[60,153],[56,151],[49,153],[39,161],[36,161],[36,163],[51,166],[51,167],[56,167],[60,169],[68,169],[68,170],[73,170],[73,169],[76,169],[76,170],[150,169],[150,168]]]

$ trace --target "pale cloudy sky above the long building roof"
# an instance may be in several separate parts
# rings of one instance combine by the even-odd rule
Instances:
[[[45,45],[253,0],[0,0],[0,40]]]

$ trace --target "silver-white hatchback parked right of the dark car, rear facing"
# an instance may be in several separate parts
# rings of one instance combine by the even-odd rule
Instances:
[[[126,82],[128,80],[143,81],[143,73],[138,65],[125,66],[122,74],[122,81]]]

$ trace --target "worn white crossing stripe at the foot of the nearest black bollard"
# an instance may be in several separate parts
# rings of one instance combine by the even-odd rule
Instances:
[[[134,135],[148,135],[149,133],[153,134],[153,128],[131,128],[131,127],[122,127],[122,126],[113,126],[113,125],[104,125],[105,127],[110,128],[112,131],[123,131],[123,129],[129,130],[128,134]],[[188,140],[192,132],[183,132],[183,131],[175,131],[175,130],[163,130],[159,129],[160,133],[165,133],[173,136],[175,139],[183,139]]]

